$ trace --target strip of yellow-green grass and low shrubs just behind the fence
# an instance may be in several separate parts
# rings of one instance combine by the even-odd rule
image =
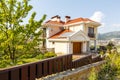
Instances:
[[[30,62],[36,62],[36,61],[40,61],[42,59],[46,59],[46,58],[50,58],[50,57],[55,57],[57,56],[55,53],[53,52],[47,52],[47,53],[40,53],[38,55],[33,55],[33,54],[27,54],[27,55],[22,55],[20,57],[18,57],[15,62],[12,62],[11,59],[3,59],[0,58],[0,69],[2,68],[9,68],[12,66],[17,66],[17,65],[22,65],[25,63],[30,63]]]

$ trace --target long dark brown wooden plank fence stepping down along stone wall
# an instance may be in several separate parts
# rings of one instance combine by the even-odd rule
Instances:
[[[92,63],[91,55],[72,61],[72,54],[68,54],[0,70],[0,80],[35,80],[90,63]]]

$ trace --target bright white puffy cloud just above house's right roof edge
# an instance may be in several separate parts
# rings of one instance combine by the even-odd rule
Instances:
[[[96,11],[94,14],[90,17],[91,20],[102,22],[102,19],[105,17],[105,15],[101,11]]]

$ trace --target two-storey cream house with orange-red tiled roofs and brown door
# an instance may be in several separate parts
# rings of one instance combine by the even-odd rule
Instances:
[[[46,28],[46,48],[54,48],[55,53],[80,54],[90,50],[90,41],[96,47],[97,27],[101,24],[88,18],[62,21],[56,15],[43,24]]]

